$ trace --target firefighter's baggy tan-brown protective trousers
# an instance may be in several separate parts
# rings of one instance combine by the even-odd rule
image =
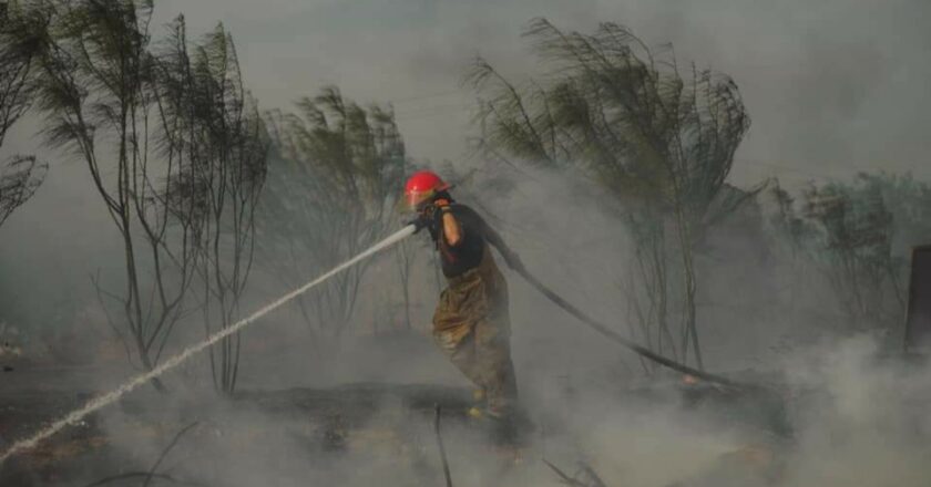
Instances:
[[[449,278],[433,313],[433,338],[450,361],[483,393],[487,413],[509,417],[518,386],[511,362],[508,283],[485,247],[481,263]]]

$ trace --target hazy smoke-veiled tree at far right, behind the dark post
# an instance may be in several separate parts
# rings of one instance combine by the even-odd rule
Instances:
[[[830,284],[848,330],[896,330],[904,318],[909,250],[931,238],[931,187],[911,176],[860,174],[851,183],[785,191],[774,227]]]

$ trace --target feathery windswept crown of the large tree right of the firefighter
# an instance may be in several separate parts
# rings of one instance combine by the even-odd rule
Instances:
[[[467,77],[489,95],[478,114],[485,142],[530,164],[580,167],[625,204],[673,211],[682,201],[704,217],[749,127],[734,81],[683,74],[614,23],[587,35],[538,19],[524,35],[550,66],[542,82],[516,86],[482,59]]]

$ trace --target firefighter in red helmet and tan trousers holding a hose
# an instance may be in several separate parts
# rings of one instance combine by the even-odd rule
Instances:
[[[422,170],[407,182],[405,196],[440,255],[448,287],[433,313],[433,338],[450,361],[478,388],[473,417],[513,424],[518,386],[511,362],[508,283],[494,263],[489,244],[508,266],[523,265],[472,208],[457,204],[450,185]]]

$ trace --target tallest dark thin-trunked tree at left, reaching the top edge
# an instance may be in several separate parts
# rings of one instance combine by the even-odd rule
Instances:
[[[49,0],[33,8],[48,15],[37,80],[44,132],[50,144],[86,163],[120,232],[124,289],[95,284],[102,302],[106,297],[120,308],[119,318],[108,317],[127,352],[151,370],[184,314],[195,259],[191,229],[170,231],[165,191],[156,186],[183,174],[177,151],[153,157],[152,3]]]

